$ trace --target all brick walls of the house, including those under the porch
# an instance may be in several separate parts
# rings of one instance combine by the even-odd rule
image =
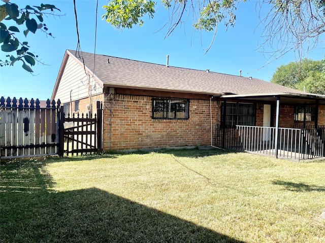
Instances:
[[[179,94],[169,95],[178,97]],[[96,101],[104,104],[104,151],[211,145],[209,99],[189,99],[189,119],[152,119],[152,98],[153,96],[133,94],[92,97],[93,113],[96,112]],[[220,124],[221,120],[221,102],[211,101],[213,145],[214,126]],[[79,101],[80,113],[87,113],[87,104],[89,98]],[[275,112],[275,105],[272,105],[271,127],[275,126]],[[303,124],[302,121],[294,121],[294,112],[294,105],[281,105],[279,126],[295,128],[296,125]],[[255,126],[263,126],[263,113],[263,103],[257,103]],[[306,123],[309,124],[314,125],[314,122]],[[318,125],[325,125],[325,105],[319,105]]]

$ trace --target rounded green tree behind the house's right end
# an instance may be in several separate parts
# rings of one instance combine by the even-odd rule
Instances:
[[[271,83],[325,95],[325,59],[320,61],[303,59],[301,62],[281,65],[273,74]]]

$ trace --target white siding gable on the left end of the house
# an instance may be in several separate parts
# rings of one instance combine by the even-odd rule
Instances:
[[[73,58],[69,57],[64,67],[55,100],[61,103],[80,100],[83,98],[103,93],[103,88],[92,78],[86,75],[85,70]]]

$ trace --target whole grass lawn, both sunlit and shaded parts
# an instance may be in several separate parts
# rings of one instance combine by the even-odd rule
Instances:
[[[1,166],[0,242],[325,242],[325,162],[220,150]]]

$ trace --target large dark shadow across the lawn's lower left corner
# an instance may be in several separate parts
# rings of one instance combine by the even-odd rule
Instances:
[[[243,242],[98,188],[53,185],[42,163],[1,167],[1,242]]]

